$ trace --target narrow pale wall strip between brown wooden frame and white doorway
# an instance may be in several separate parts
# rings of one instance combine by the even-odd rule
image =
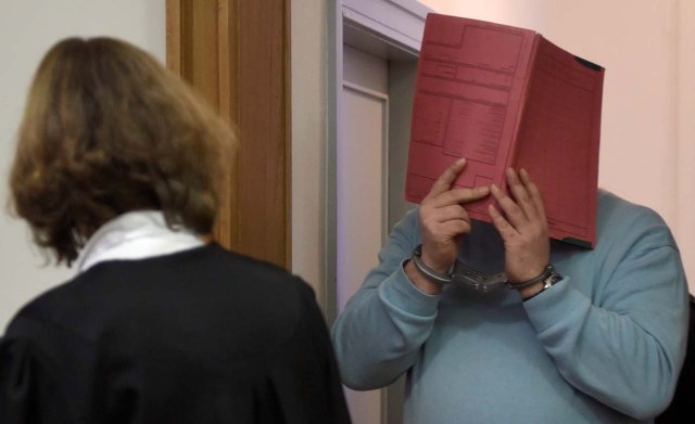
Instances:
[[[325,1],[291,2],[292,271],[323,299],[324,157],[327,137]]]

